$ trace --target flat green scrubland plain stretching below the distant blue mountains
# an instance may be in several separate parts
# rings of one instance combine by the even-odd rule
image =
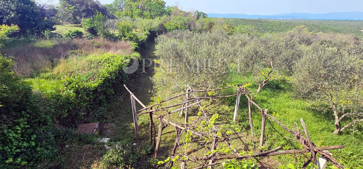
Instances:
[[[363,38],[363,21],[352,20],[267,20],[267,19],[243,19],[224,18],[231,21],[232,25],[253,25],[261,33],[280,33],[289,31],[298,25],[305,25],[309,31],[314,32],[334,32],[343,34],[353,34]]]

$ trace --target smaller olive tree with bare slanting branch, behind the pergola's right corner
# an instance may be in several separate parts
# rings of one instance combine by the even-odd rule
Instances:
[[[258,84],[258,93],[266,84],[281,79],[291,71],[301,55],[299,48],[297,39],[291,34],[285,35],[281,42],[256,37],[238,56],[238,68],[253,77]]]

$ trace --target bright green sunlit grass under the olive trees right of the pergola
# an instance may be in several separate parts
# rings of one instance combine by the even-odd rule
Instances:
[[[252,81],[250,78],[240,77],[232,75],[230,83],[245,83],[246,81]],[[256,90],[257,86],[252,86],[251,90]],[[246,100],[241,100],[244,102]],[[300,119],[304,119],[307,130],[309,131],[311,140],[318,147],[329,145],[345,146],[344,149],[332,150],[335,159],[338,162],[342,162],[346,167],[361,168],[363,167],[363,144],[361,141],[362,129],[343,131],[339,135],[333,135],[335,130],[334,117],[329,112],[323,114],[314,110],[313,105],[304,100],[295,99],[291,92],[291,86],[287,82],[274,82],[266,85],[262,91],[254,97],[254,101],[262,107],[262,109],[269,109],[269,114],[273,115],[278,121],[283,123],[290,129],[293,129],[296,124],[301,126]],[[241,126],[249,131],[248,123],[248,109],[246,105],[240,107],[241,113],[240,121]],[[258,110],[254,110],[254,137],[259,138],[261,128],[261,115]],[[302,130],[302,128],[301,128]],[[300,149],[300,145],[284,137],[290,137],[282,127],[276,124],[274,121],[268,119],[266,121],[265,145],[267,147],[276,148],[281,146],[283,149]],[[256,140],[256,139],[255,139]],[[278,160],[282,163],[288,164],[294,162],[292,155],[278,156]]]

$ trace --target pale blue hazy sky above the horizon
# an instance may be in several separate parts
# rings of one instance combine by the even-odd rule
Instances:
[[[46,1],[46,0],[41,0]],[[113,0],[99,0],[109,4]],[[205,13],[329,13],[363,12],[363,0],[164,0],[166,5],[179,6],[184,10],[194,9]]]

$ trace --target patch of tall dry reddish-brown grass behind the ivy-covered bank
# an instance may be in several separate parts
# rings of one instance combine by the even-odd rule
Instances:
[[[65,63],[65,60],[70,57],[103,53],[118,55],[132,53],[129,42],[113,42],[106,39],[41,40],[17,46],[5,48],[1,50],[1,53],[14,58],[15,73],[26,77],[32,77],[34,73],[50,71],[58,64]]]

